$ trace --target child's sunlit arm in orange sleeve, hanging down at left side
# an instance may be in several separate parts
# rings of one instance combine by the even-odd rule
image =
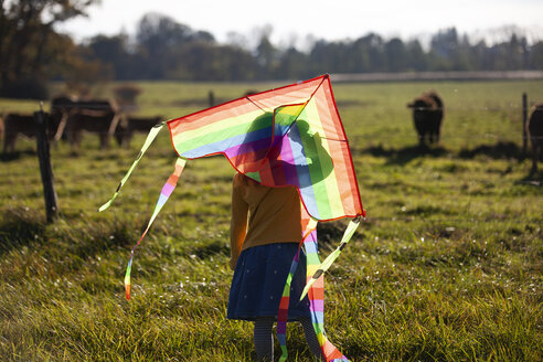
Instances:
[[[237,177],[237,175],[236,175]],[[247,212],[248,204],[243,200],[239,190],[238,178],[234,178],[234,184],[232,188],[232,216],[230,223],[230,247],[231,259],[230,267],[235,269],[237,258],[242,253],[242,245],[247,232]]]

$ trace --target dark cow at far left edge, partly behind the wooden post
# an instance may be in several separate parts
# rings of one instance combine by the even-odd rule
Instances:
[[[15,114],[10,113],[3,118],[3,153],[15,151],[15,141],[19,135],[26,137],[35,137],[36,125],[34,116],[32,114]],[[47,138],[51,139],[56,130],[56,124],[54,121],[47,123]]]

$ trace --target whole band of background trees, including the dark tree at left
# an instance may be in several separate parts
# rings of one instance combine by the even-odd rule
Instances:
[[[519,71],[543,68],[543,41],[511,33],[505,41],[472,42],[455,28],[419,40],[369,33],[355,40],[317,40],[306,51],[277,46],[262,32],[253,49],[220,43],[158,13],[141,18],[136,34],[96,35],[75,43],[55,25],[85,15],[95,0],[0,0],[0,96],[44,98],[46,83],[84,87],[108,79],[301,79],[322,73]]]

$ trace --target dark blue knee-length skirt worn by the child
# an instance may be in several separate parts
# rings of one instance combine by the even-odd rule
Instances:
[[[285,283],[297,249],[296,243],[276,243],[243,251],[232,278],[226,318],[277,318]],[[307,296],[300,301],[305,286],[306,254],[301,249],[298,268],[290,284],[288,320],[310,318]]]

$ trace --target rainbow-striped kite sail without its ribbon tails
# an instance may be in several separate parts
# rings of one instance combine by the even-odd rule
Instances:
[[[180,157],[223,153],[264,185],[296,185],[313,219],[364,215],[328,75],[172,119],[168,127]]]

